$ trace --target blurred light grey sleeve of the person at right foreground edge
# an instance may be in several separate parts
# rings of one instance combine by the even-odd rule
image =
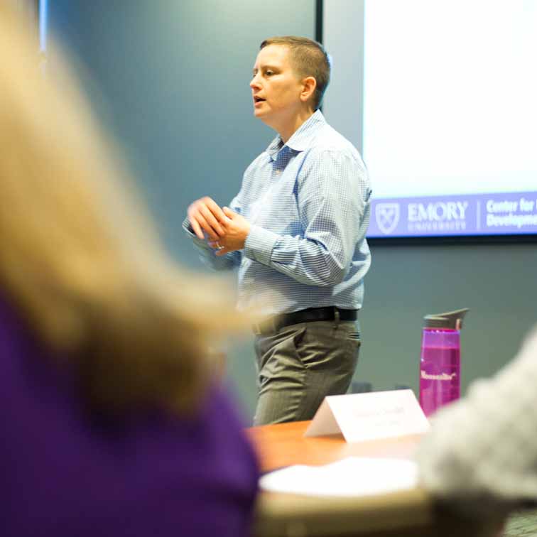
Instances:
[[[511,363],[435,413],[416,458],[423,487],[466,514],[537,507],[537,327]]]

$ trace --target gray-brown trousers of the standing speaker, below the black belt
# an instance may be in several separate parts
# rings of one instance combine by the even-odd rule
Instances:
[[[345,394],[358,362],[355,321],[300,322],[255,342],[259,397],[254,425],[310,420],[327,395]]]

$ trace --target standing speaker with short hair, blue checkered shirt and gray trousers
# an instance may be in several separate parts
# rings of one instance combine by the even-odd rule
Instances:
[[[308,420],[345,394],[356,368],[371,188],[356,148],[320,112],[325,50],[295,36],[261,43],[254,115],[278,136],[246,169],[229,207],[190,205],[184,227],[216,269],[238,267],[240,309],[254,325],[255,425]]]

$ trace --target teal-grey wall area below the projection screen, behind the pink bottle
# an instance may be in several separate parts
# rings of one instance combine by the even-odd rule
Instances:
[[[470,308],[461,332],[463,392],[511,359],[537,322],[535,244],[373,246],[372,254],[359,376],[375,389],[418,388],[427,313]]]

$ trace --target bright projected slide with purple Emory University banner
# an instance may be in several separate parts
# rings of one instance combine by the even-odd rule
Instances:
[[[366,0],[369,237],[537,233],[537,1]]]

